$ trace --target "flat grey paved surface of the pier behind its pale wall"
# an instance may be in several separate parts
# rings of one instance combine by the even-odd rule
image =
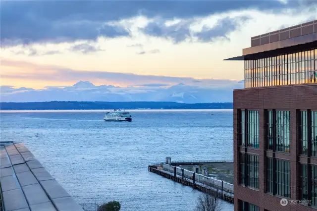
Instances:
[[[178,165],[181,168],[193,171],[194,165]],[[212,162],[212,163],[201,163],[200,170],[202,168],[208,168],[209,177],[222,180],[233,184],[233,163],[232,162]]]

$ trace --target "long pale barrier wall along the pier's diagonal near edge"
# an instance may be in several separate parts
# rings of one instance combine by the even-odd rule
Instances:
[[[166,163],[161,164],[163,170],[174,173],[174,166],[168,165]],[[176,174],[182,176],[182,169],[180,167],[176,167]],[[184,169],[184,177],[188,179],[193,179],[194,172]],[[204,176],[202,174],[195,173],[195,181],[200,182],[202,184],[217,188],[219,190],[223,190],[233,194],[233,184],[230,184],[225,181],[221,181],[218,179],[214,179],[208,176]]]

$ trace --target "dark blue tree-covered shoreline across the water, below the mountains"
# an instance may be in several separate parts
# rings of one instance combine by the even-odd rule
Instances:
[[[0,103],[1,110],[95,110],[95,109],[232,109],[233,103],[184,104],[175,102],[30,102]]]

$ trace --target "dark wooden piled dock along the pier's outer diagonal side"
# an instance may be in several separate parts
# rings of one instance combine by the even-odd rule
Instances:
[[[182,177],[178,177],[176,175],[176,173],[174,173],[174,175],[172,175],[171,173],[169,172],[165,172],[164,170],[162,169],[159,169],[158,166],[156,165],[149,165],[149,171],[150,172],[153,172],[153,173],[156,173],[156,174],[159,174],[167,179],[171,179],[171,180],[174,180],[175,182],[178,182],[178,183],[181,183],[183,185],[186,185],[186,186],[190,186],[196,190],[199,190],[203,193],[208,193],[208,194],[215,194],[217,197],[219,197],[220,199],[228,202],[228,203],[231,203],[233,204],[233,194],[229,194],[229,193],[225,193],[223,191],[219,192],[219,190],[216,190],[216,189],[212,189],[209,188],[209,187],[206,187],[206,185],[203,185],[201,183],[197,183],[195,182],[195,178],[193,178],[193,180],[189,180],[189,179],[186,179],[186,178],[182,178]]]

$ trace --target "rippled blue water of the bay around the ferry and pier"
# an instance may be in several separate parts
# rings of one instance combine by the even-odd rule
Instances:
[[[105,111],[1,112],[0,138],[23,142],[87,208],[116,200],[122,211],[193,211],[200,192],[148,165],[165,157],[232,160],[232,110],[130,112],[132,122],[104,122]]]

